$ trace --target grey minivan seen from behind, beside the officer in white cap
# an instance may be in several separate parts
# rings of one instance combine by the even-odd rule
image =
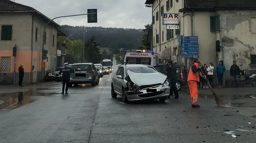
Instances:
[[[98,69],[93,63],[72,64],[71,69],[74,71],[70,74],[69,87],[78,84],[91,84],[95,86],[100,82]]]

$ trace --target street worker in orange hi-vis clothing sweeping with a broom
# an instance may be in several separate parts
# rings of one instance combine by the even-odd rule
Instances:
[[[197,90],[197,82],[200,81],[199,71],[202,68],[202,65],[199,60],[195,59],[194,64],[189,69],[188,73],[188,87],[190,90],[191,97],[191,106],[194,108],[199,108],[200,106],[197,104],[198,98],[198,90]]]

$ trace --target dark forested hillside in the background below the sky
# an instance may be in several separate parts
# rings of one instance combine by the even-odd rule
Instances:
[[[62,25],[63,31],[69,39],[83,39],[85,32],[85,41],[95,37],[95,41],[100,47],[109,47],[113,53],[118,51],[118,48],[136,49],[143,37],[142,29],[123,29],[123,28],[104,28],[104,27],[85,27],[85,26],[69,26]]]

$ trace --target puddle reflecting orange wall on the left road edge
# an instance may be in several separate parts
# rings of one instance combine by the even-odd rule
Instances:
[[[31,89],[30,91],[0,94],[0,110],[8,108],[18,108],[25,104],[31,103],[34,101],[32,99],[32,96],[51,96],[54,94],[58,94],[55,92],[37,92],[38,90],[49,90],[49,88],[39,88]]]

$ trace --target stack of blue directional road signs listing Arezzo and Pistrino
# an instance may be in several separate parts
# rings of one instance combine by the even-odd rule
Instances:
[[[182,37],[181,54],[184,58],[198,58],[198,36]]]

